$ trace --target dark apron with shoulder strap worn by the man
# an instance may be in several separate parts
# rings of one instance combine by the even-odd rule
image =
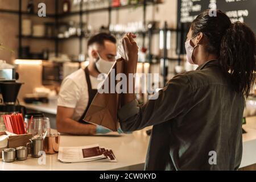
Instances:
[[[88,105],[87,105],[86,109],[84,110],[84,114],[82,114],[81,118],[79,119],[79,122],[83,123],[83,124],[88,124],[87,122],[83,121],[82,119],[84,119],[85,114],[87,113],[87,111],[90,107],[90,104],[92,104],[93,98],[94,98],[94,96],[96,96],[96,93],[98,90],[92,89],[92,84],[90,82],[90,74],[89,74],[88,67],[85,68],[84,72],[85,72],[85,78],[86,78],[86,82],[87,82],[87,86],[88,86],[89,101],[88,101]]]

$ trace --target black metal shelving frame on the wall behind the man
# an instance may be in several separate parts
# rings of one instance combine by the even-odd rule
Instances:
[[[102,7],[99,9],[90,9],[90,10],[84,10],[83,9],[83,3],[81,1],[80,6],[79,6],[79,11],[73,11],[70,13],[59,13],[59,0],[54,0],[55,1],[55,14],[47,14],[46,18],[52,18],[54,19],[54,26],[56,28],[56,30],[59,29],[60,26],[60,19],[62,18],[67,18],[69,16],[79,16],[79,24],[80,24],[80,28],[82,30],[82,25],[83,25],[83,15],[84,14],[91,14],[91,13],[98,13],[98,12],[102,12],[102,11],[108,11],[108,27],[110,26],[112,19],[111,19],[111,14],[113,10],[122,10],[122,9],[130,9],[133,7],[143,7],[143,24],[144,27],[146,27],[146,11],[147,11],[147,6],[149,5],[158,5],[158,2],[154,2],[154,1],[147,1],[144,0],[141,3],[138,3],[137,5],[125,5],[125,6],[119,6],[119,7]],[[111,1],[109,1],[111,2]],[[111,5],[111,3],[109,3],[109,5]],[[58,38],[57,36],[54,37],[48,37],[48,36],[42,36],[42,37],[36,37],[36,36],[24,36],[22,35],[22,16],[26,15],[26,16],[37,16],[36,13],[30,14],[27,13],[26,11],[22,10],[22,0],[19,0],[19,10],[4,10],[4,9],[0,9],[0,13],[9,13],[9,14],[15,14],[19,16],[19,35],[18,35],[18,39],[19,39],[19,58],[21,55],[21,50],[20,48],[22,47],[22,40],[23,39],[34,39],[34,40],[47,40],[47,41],[54,41],[55,42],[55,55],[58,56],[59,53],[59,42],[60,41],[64,41],[64,40],[68,40],[68,39],[78,39],[79,40],[79,53],[82,53],[82,40],[84,38],[88,38],[89,35],[82,35],[82,36],[71,36],[69,38]],[[163,48],[163,56],[159,57],[156,55],[152,55],[151,53],[151,46],[152,46],[152,36],[155,34],[159,34],[160,31],[163,31],[164,33],[164,48]],[[143,47],[147,47],[148,48],[148,63],[155,63],[155,61],[153,60],[157,60],[156,63],[159,63],[160,59],[163,59],[163,65],[164,67],[166,66],[166,61],[178,61],[178,63],[180,64],[180,55],[179,57],[168,57],[167,56],[167,44],[166,44],[166,40],[167,40],[167,31],[171,31],[171,32],[180,32],[181,30],[176,30],[174,28],[168,28],[167,23],[165,23],[164,28],[160,28],[160,29],[152,29],[149,28],[147,31],[140,31],[140,32],[136,32],[136,34],[139,34],[143,37]],[[125,34],[125,32],[111,32],[109,31],[111,34],[113,35],[123,35]],[[145,46],[145,39],[148,38],[148,45]],[[165,70],[162,71],[163,73],[163,77],[164,79],[166,79],[167,77],[167,73]]]

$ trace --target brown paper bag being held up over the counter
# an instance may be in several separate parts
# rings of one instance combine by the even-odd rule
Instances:
[[[122,58],[118,59],[113,68],[115,69],[115,75],[118,73],[123,73],[124,71],[124,61]],[[112,131],[117,131],[118,129],[118,118],[117,118],[117,110],[120,106],[121,94],[110,93],[110,73],[108,75],[108,86],[109,93],[97,93],[94,97],[92,104],[90,105],[85,117],[84,121],[92,123],[94,125],[101,125],[110,129]],[[117,85],[119,81],[115,81],[115,85]],[[105,82],[104,82],[105,83]],[[105,85],[105,84],[103,84]],[[114,85],[114,86],[115,86]]]

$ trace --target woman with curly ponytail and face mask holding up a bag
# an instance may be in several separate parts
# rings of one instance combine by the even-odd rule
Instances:
[[[125,35],[126,73],[135,73],[137,44]],[[146,170],[237,170],[242,158],[242,117],[255,82],[255,35],[245,23],[209,10],[193,20],[185,43],[196,71],[181,73],[139,106],[124,94],[123,131],[153,125]],[[135,154],[134,154],[135,155]]]

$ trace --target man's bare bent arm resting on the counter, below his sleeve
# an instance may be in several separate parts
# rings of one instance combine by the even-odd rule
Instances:
[[[96,134],[95,125],[85,125],[72,119],[75,109],[58,106],[56,124],[60,133],[72,135],[94,135]]]

